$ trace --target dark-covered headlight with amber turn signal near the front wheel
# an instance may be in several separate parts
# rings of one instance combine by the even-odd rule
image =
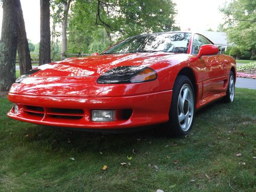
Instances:
[[[157,78],[155,70],[144,66],[119,66],[102,74],[100,84],[136,83],[152,81]]]

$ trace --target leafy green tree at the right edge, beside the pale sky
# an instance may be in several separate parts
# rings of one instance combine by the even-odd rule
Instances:
[[[230,42],[241,50],[256,54],[256,1],[234,0],[220,11],[225,15],[225,23],[220,28],[227,32]]]

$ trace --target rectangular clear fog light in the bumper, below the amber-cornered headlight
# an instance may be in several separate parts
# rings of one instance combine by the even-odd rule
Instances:
[[[115,110],[93,110],[92,111],[92,121],[114,121],[116,112]]]

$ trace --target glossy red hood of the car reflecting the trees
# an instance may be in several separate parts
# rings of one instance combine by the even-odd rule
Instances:
[[[100,76],[118,66],[145,66],[166,59],[173,53],[108,54],[68,58],[59,62],[39,66],[41,69],[31,77],[78,77]]]

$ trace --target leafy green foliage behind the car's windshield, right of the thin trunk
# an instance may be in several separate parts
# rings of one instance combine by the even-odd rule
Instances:
[[[113,40],[177,30],[174,8],[171,0],[77,0],[69,15],[68,52],[100,52]]]

